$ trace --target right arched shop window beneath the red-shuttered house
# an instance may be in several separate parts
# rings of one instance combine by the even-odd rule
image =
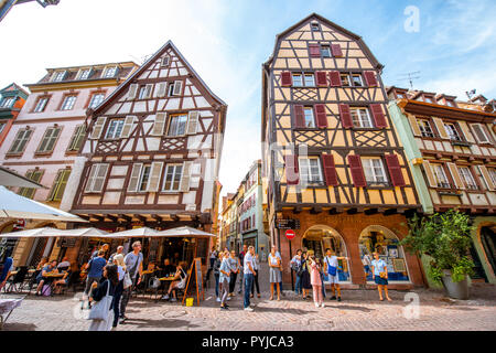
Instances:
[[[403,247],[393,232],[380,225],[370,225],[362,231],[358,247],[367,281],[373,281],[369,261],[373,260],[373,253],[377,252],[388,265],[389,282],[410,282]]]

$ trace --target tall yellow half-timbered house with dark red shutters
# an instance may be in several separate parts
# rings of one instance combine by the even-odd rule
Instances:
[[[271,243],[283,263],[299,248],[339,260],[345,287],[371,285],[379,252],[396,288],[423,284],[399,240],[421,210],[387,111],[382,65],[356,34],[317,14],[277,35],[262,65],[263,170]],[[284,228],[295,228],[288,240]],[[291,284],[284,266],[283,284]]]

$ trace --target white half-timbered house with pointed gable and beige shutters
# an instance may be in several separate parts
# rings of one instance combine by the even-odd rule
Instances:
[[[187,225],[211,232],[226,110],[169,41],[88,111],[64,206],[107,231]],[[144,244],[149,260],[163,244]]]

